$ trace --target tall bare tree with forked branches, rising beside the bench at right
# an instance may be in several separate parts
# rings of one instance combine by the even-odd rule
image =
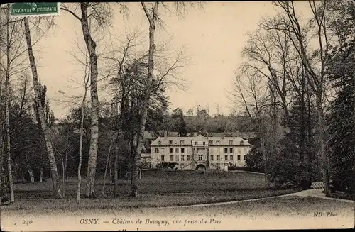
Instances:
[[[309,1],[312,18],[307,26],[302,27],[296,14],[293,1],[275,1],[273,4],[282,10],[278,18],[263,23],[266,30],[279,30],[288,35],[297,50],[305,69],[312,91],[315,92],[317,105],[317,138],[319,141],[319,157],[322,160],[322,175],[324,194],[329,195],[329,171],[325,145],[325,122],[324,122],[324,91],[327,88],[327,79],[324,72],[329,57],[329,32],[327,31],[326,9],[327,1]],[[307,33],[314,32],[317,38],[318,48],[310,53]]]

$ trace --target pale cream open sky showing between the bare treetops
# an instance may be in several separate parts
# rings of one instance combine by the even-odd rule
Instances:
[[[148,32],[148,21],[138,3],[127,3],[129,16],[125,17],[115,9],[111,37],[119,38],[126,30],[141,28]],[[163,13],[164,28],[158,28],[155,38],[168,41],[169,49],[178,52],[182,45],[190,57],[188,65],[180,72],[187,89],[167,91],[170,109],[188,109],[200,105],[208,106],[210,114],[229,114],[231,101],[228,91],[234,72],[242,62],[241,50],[246,45],[246,33],[254,31],[263,16],[275,14],[271,1],[207,2],[203,9],[190,8],[182,18],[174,13]],[[80,23],[69,13],[61,11],[55,18],[55,28],[35,45],[40,82],[48,87],[51,109],[56,118],[67,114],[69,106],[78,104],[63,103],[65,96],[82,94],[76,82],[83,76],[83,67],[75,61],[71,53],[79,54],[77,41],[83,44]],[[146,34],[148,36],[148,34]],[[98,40],[101,48],[104,40]],[[148,50],[148,43],[146,43]],[[100,63],[99,63],[100,65]],[[100,67],[99,67],[100,69]],[[65,96],[60,92],[65,92]],[[108,91],[99,92],[99,101],[110,99]]]

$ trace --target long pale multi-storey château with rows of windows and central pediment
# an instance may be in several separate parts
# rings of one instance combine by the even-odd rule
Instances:
[[[251,149],[241,137],[164,137],[151,143],[151,167],[175,164],[178,169],[225,169],[229,165],[244,167],[246,154]]]

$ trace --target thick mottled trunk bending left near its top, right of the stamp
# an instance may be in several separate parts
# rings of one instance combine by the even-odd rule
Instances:
[[[96,43],[92,39],[89,31],[89,22],[87,16],[87,2],[80,3],[82,10],[81,24],[82,35],[84,36],[89,52],[90,62],[90,94],[91,94],[91,138],[89,148],[89,161],[87,164],[87,197],[96,197],[95,195],[95,173],[97,162],[97,146],[99,141],[99,96],[97,94],[97,55]]]

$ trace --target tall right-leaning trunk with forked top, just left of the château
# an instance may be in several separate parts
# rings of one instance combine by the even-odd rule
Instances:
[[[141,166],[141,151],[143,148],[143,136],[144,131],[146,130],[146,121],[147,121],[147,114],[149,108],[149,100],[151,98],[151,83],[153,79],[153,71],[154,71],[154,51],[155,51],[155,23],[157,20],[157,13],[158,13],[158,2],[155,1],[155,4],[152,9],[152,15],[146,9],[146,5],[142,2],[141,3],[144,12],[146,13],[146,17],[149,21],[149,51],[148,51],[148,74],[146,79],[146,89],[144,93],[143,99],[143,106],[141,111],[141,118],[140,118],[140,126],[137,135],[137,145],[136,145],[136,153],[133,157],[133,175],[131,177],[131,197],[137,197],[138,195],[138,180],[139,180],[139,168]]]

